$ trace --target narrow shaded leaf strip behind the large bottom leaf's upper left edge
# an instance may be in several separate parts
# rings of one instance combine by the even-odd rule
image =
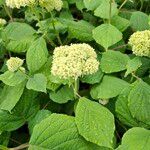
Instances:
[[[32,120],[30,120],[28,123],[30,133],[32,133],[33,128],[36,124],[40,123],[42,120],[49,117],[50,115],[51,115],[51,112],[49,110],[44,110],[44,109],[39,110],[37,114],[35,115],[35,117]]]

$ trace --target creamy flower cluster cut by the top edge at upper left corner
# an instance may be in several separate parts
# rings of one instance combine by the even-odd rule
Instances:
[[[20,8],[34,4],[35,0],[6,0],[6,5],[10,8]]]

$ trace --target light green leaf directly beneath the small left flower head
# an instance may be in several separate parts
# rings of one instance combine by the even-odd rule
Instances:
[[[16,86],[26,80],[26,75],[21,71],[6,71],[4,74],[0,75],[0,80],[6,85]]]

